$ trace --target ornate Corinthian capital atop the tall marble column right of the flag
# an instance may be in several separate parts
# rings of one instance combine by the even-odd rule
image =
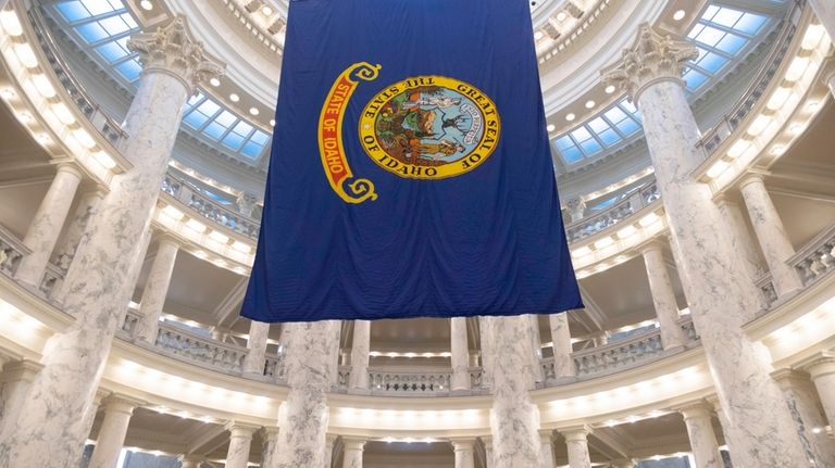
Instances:
[[[626,91],[637,102],[640,92],[655,83],[681,81],[685,64],[698,56],[691,42],[662,35],[644,23],[635,43],[623,51],[623,60],[600,74],[603,83]]]

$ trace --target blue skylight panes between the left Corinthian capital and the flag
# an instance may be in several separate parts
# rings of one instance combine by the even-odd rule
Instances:
[[[224,150],[254,161],[270,141],[270,135],[225,109],[203,92],[188,100],[183,123]]]

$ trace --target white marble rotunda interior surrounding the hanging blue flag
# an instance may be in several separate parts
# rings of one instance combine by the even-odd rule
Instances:
[[[0,467],[835,467],[832,0],[531,1],[585,308],[267,325],[288,2],[0,0]]]

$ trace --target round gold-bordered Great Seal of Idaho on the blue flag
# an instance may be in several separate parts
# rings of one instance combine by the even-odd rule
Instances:
[[[360,142],[369,156],[410,179],[444,179],[475,169],[496,150],[500,134],[493,100],[445,76],[396,83],[360,116]]]

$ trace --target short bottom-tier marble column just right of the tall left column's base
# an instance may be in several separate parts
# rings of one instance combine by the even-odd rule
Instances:
[[[90,457],[89,468],[115,468],[119,455],[125,444],[127,427],[138,402],[111,395],[102,402],[104,405],[104,420],[99,429],[99,439]]]

